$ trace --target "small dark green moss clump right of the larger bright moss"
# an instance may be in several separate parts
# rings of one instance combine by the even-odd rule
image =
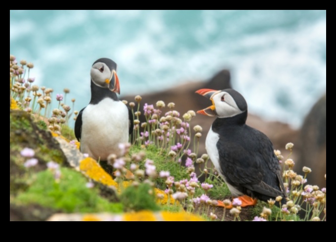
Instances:
[[[155,201],[155,192],[148,184],[127,187],[120,195],[120,200],[126,211],[160,210]]]

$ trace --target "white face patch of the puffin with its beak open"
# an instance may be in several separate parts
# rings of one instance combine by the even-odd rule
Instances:
[[[244,112],[239,109],[233,97],[227,92],[215,93],[211,98],[219,118],[229,118]]]

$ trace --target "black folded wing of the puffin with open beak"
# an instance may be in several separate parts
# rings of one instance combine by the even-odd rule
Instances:
[[[227,182],[237,184],[243,190],[284,197],[280,165],[271,141],[249,126],[239,135],[236,139],[219,139],[217,143],[220,167]]]

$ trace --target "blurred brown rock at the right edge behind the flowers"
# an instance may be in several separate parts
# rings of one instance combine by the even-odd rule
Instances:
[[[321,97],[306,116],[299,135],[301,143],[296,170],[302,167],[312,169],[308,184],[326,187],[324,175],[327,172],[327,94]]]

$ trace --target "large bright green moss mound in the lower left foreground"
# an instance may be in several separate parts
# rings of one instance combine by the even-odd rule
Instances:
[[[99,196],[96,188],[88,189],[87,179],[69,168],[61,168],[61,179],[57,183],[51,171],[37,173],[29,189],[15,199],[22,204],[36,203],[64,212],[121,212],[120,203],[110,203]]]

